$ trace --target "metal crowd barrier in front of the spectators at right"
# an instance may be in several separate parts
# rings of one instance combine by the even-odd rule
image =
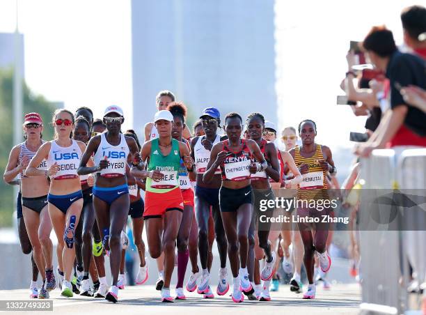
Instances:
[[[363,191],[378,198],[397,190],[413,195],[421,190],[425,196],[426,149],[375,150],[370,158],[361,160],[361,178],[365,181]],[[418,282],[425,282],[426,203],[420,201],[413,211],[411,203],[407,207],[404,200],[402,206],[397,205],[401,215],[396,217],[391,214],[392,206],[374,207],[381,218],[393,217],[388,229],[386,220],[384,224],[372,220],[368,206],[359,210],[361,314],[404,314],[410,309],[409,263]]]

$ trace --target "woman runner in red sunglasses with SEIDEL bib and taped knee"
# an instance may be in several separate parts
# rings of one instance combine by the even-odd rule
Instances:
[[[26,168],[26,175],[47,175],[51,179],[47,200],[49,216],[58,238],[58,274],[60,280],[61,276],[64,277],[61,295],[72,297],[70,280],[75,259],[74,233],[83,206],[77,168],[86,144],[70,138],[74,128],[74,115],[67,109],[56,110],[53,125],[55,139],[38,149]],[[37,169],[42,160],[47,160],[47,171]]]

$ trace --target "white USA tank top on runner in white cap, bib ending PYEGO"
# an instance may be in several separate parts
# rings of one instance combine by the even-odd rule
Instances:
[[[127,146],[126,138],[120,134],[121,141],[118,146],[112,146],[105,138],[106,132],[100,135],[101,142],[93,160],[95,165],[99,165],[101,160],[106,156],[108,158],[108,167],[100,171],[102,177],[118,177],[126,174],[127,156],[129,156],[129,146]]]

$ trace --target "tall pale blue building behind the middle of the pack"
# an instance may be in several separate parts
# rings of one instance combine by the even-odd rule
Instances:
[[[274,0],[132,0],[133,125],[173,91],[192,118],[209,106],[276,121]]]

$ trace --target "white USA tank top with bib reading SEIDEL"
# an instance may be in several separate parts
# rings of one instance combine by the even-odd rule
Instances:
[[[51,148],[47,157],[47,169],[52,167],[55,162],[59,166],[59,171],[51,178],[54,179],[70,179],[78,178],[77,169],[81,160],[81,149],[77,141],[72,140],[71,146],[58,146],[56,141],[51,141]]]

